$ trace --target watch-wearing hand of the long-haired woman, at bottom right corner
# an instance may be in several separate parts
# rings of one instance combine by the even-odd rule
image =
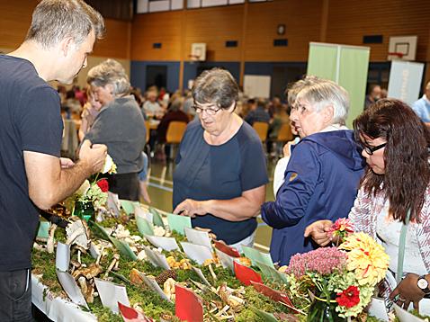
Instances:
[[[390,300],[394,300],[399,295],[397,304],[400,308],[408,310],[410,302],[414,303],[414,309],[419,311],[419,301],[424,298],[424,291],[418,288],[418,275],[408,273],[406,277],[399,282],[397,288],[390,294]]]

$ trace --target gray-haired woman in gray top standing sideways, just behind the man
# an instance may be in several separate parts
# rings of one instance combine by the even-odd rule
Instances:
[[[91,68],[86,81],[103,107],[85,139],[105,144],[117,165],[117,174],[108,177],[109,190],[121,199],[139,201],[146,129],[139,105],[130,95],[129,78],[119,62],[108,59]]]

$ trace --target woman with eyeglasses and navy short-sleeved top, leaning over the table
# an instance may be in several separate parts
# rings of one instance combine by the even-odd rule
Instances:
[[[230,246],[252,246],[268,182],[263,146],[235,112],[238,86],[213,68],[193,85],[199,120],[184,133],[174,173],[174,213],[209,228]]]

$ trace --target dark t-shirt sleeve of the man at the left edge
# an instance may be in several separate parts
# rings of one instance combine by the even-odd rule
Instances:
[[[22,151],[60,157],[63,121],[58,94],[49,87],[37,87],[22,99],[18,113]]]

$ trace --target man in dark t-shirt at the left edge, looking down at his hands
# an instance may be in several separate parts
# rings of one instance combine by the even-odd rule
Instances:
[[[79,161],[59,157],[63,124],[57,92],[71,84],[104,31],[82,0],[42,0],[22,45],[0,55],[0,321],[30,321],[31,246],[37,208],[75,192],[104,164],[106,147],[85,141]],[[54,263],[52,263],[54,264]]]

